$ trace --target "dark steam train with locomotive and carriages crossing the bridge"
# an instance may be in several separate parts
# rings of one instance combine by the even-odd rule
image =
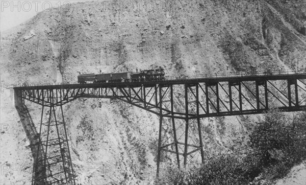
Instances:
[[[110,82],[140,82],[161,81],[165,79],[164,69],[160,66],[156,70],[136,70],[136,73],[108,73],[84,74],[78,76],[78,83],[110,83]]]

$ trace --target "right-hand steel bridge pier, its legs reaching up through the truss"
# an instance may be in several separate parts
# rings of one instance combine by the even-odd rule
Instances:
[[[183,156],[183,165],[186,168],[188,163],[188,156],[196,154],[195,152],[200,151],[201,161],[203,162],[203,143],[202,143],[202,133],[201,133],[201,124],[200,119],[197,118],[190,118],[190,116],[199,115],[199,93],[198,93],[199,84],[185,84],[184,91],[185,91],[185,113],[180,119],[177,119],[174,115],[178,114],[173,109],[173,86],[172,85],[159,85],[159,117],[160,117],[160,125],[159,125],[159,141],[158,141],[158,155],[157,155],[157,177],[160,175],[160,161],[161,161],[161,152],[169,152],[176,155],[177,160],[177,167],[181,168],[180,164],[180,155]],[[164,111],[165,109],[171,110],[171,112]],[[169,115],[170,114],[170,115]],[[169,144],[162,145],[162,131],[163,131],[163,123],[166,124],[166,118],[171,119],[172,122],[172,130],[173,130],[173,142]],[[175,120],[181,120],[183,122],[183,126],[185,124],[185,130],[183,134],[177,138],[177,127],[175,124]],[[196,125],[197,126],[197,133],[198,133],[198,144],[190,144],[188,141],[189,132],[192,130],[190,126]],[[184,127],[183,127],[184,128]],[[184,142],[180,142],[180,138],[185,135]],[[182,146],[181,150],[180,147]],[[169,149],[169,147],[174,148]],[[192,147],[192,150],[188,150]]]

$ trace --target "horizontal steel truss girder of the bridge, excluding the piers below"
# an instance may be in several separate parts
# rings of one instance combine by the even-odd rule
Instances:
[[[281,83],[275,84],[275,83]],[[305,98],[299,91],[305,92],[305,82],[294,80],[255,80],[236,82],[186,83],[198,84],[200,100],[199,114],[189,113],[188,117],[196,119],[226,115],[264,113],[269,108],[284,111],[305,110]],[[115,87],[87,88],[21,88],[15,89],[15,102],[29,100],[44,106],[60,106],[78,98],[114,98],[159,115],[159,86],[167,84],[142,84]],[[180,86],[180,84],[168,84]],[[195,96],[195,92],[193,93]],[[164,96],[164,95],[162,95]],[[274,99],[274,101],[269,101]],[[169,100],[168,100],[169,101]],[[165,117],[185,119],[185,111],[166,111]]]

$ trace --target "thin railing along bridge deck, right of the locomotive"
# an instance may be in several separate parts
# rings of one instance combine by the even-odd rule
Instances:
[[[184,80],[184,79],[203,79],[203,78],[230,78],[230,77],[245,77],[245,76],[271,76],[271,75],[293,75],[293,74],[306,74],[304,70],[266,70],[266,71],[251,71],[240,73],[210,73],[200,75],[181,75],[181,76],[166,76],[165,80]]]

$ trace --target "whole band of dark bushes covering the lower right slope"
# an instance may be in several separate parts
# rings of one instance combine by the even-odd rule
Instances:
[[[244,151],[210,158],[200,168],[169,168],[157,184],[271,184],[306,156],[306,113],[291,121],[278,110],[249,134]]]

